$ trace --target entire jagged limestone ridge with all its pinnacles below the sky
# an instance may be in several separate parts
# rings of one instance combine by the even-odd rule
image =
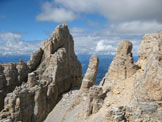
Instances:
[[[144,36],[137,63],[132,57],[132,43],[123,40],[99,86],[95,85],[98,58],[91,58],[82,80],[73,43],[67,25],[61,25],[28,65],[0,65],[1,96],[4,88],[22,82],[22,67],[32,71],[27,83],[4,95],[0,122],[162,121],[162,31]],[[81,89],[72,90],[80,87],[81,80]]]

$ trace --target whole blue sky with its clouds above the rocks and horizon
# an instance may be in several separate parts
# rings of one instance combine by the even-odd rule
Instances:
[[[161,0],[0,0],[0,55],[36,50],[69,25],[77,54],[115,54],[122,39],[137,55],[144,33],[162,29]]]

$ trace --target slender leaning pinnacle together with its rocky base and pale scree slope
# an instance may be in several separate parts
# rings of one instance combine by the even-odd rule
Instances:
[[[45,122],[86,122],[86,118],[100,110],[106,96],[102,91],[102,87],[95,85],[98,63],[97,56],[90,58],[80,90],[63,95],[62,100],[56,105]]]

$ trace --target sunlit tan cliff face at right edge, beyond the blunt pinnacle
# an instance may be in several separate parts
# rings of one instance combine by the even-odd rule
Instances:
[[[120,80],[121,83],[115,80],[105,99],[109,106],[106,122],[162,121],[161,45],[161,32],[144,36],[137,63],[139,69],[134,75]]]

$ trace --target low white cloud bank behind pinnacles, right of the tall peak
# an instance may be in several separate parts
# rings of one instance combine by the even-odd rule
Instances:
[[[124,38],[116,37],[116,35],[101,34],[102,31],[99,31],[100,33],[98,32],[93,34],[93,33],[87,33],[82,28],[77,27],[74,28],[74,30],[75,29],[76,31],[72,31],[72,35],[74,38],[75,52],[77,54],[114,55],[116,53],[116,49],[120,44],[121,40],[124,39]],[[133,43],[133,55],[137,56],[141,41],[134,38],[134,36],[129,37],[129,40]]]

